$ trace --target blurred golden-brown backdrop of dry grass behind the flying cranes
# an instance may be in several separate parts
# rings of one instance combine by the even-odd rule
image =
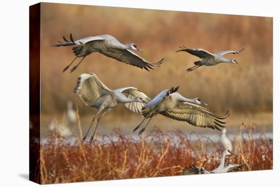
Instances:
[[[114,16],[113,16],[114,15]],[[93,72],[111,89],[137,87],[154,97],[163,89],[180,86],[188,98],[201,97],[213,112],[272,112],[272,18],[141,10],[64,4],[43,4],[41,25],[42,114],[62,113],[68,100],[83,105],[73,93],[76,78]],[[71,47],[50,47],[73,34],[74,39],[111,34],[122,43],[136,43],[148,61],[165,57],[152,72],[92,54],[73,72],[62,73],[74,55]],[[180,45],[212,52],[245,50],[240,65],[220,64],[186,73],[198,58],[175,53]],[[82,115],[91,111],[80,109]],[[118,108],[116,117],[128,114]]]

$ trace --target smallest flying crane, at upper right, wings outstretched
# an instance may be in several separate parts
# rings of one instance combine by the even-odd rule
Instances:
[[[200,61],[194,62],[195,66],[192,66],[188,68],[186,71],[192,71],[194,69],[197,69],[201,66],[215,66],[219,63],[232,63],[232,64],[238,64],[235,59],[225,59],[222,56],[226,54],[239,54],[239,52],[243,51],[241,50],[223,50],[220,52],[216,52],[215,54],[211,54],[211,52],[208,52],[207,50],[204,49],[188,49],[185,46],[180,47],[180,50],[177,50],[176,52],[179,51],[185,51],[188,52],[191,55],[197,56],[201,58]]]

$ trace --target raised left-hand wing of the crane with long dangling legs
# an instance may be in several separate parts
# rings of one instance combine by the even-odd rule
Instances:
[[[77,93],[86,106],[93,104],[100,96],[112,92],[94,73],[83,73],[78,77],[74,93]]]

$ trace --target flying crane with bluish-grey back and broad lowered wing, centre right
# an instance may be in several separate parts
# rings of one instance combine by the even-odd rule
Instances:
[[[208,127],[218,130],[220,130],[219,127],[224,127],[222,124],[225,124],[226,122],[222,122],[220,120],[226,119],[229,116],[228,111],[223,116],[212,114],[202,106],[197,105],[207,105],[200,98],[185,98],[177,92],[178,89],[179,87],[172,87],[170,90],[163,90],[149,103],[143,106],[142,114],[144,119],[134,128],[133,132],[141,127],[145,119],[150,118],[145,127],[139,131],[138,135],[141,135],[141,133],[145,131],[151,119],[157,114],[161,114],[178,121],[186,121],[189,124],[198,127]]]

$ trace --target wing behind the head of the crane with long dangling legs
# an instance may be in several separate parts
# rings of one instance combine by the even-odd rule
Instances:
[[[128,108],[132,112],[136,112],[139,114],[141,114],[142,107],[145,106],[151,100],[143,91],[141,91],[137,88],[134,88],[134,87],[120,88],[115,91],[121,92],[127,98],[141,97],[144,102],[127,102],[127,103],[125,103],[126,108]]]

